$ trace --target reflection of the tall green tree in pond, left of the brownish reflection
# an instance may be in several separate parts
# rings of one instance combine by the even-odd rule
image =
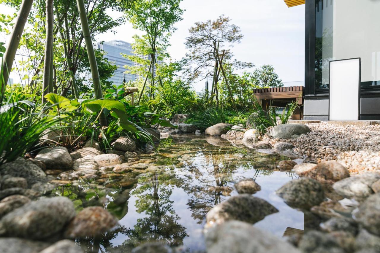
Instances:
[[[175,179],[166,173],[153,173],[152,176],[141,177],[139,183],[142,186],[131,194],[138,198],[136,212],[147,216],[139,218],[133,228],[126,230],[128,239],[119,247],[131,249],[146,241],[181,245],[188,234],[186,228],[178,223],[180,217],[173,208],[174,201],[170,200]]]

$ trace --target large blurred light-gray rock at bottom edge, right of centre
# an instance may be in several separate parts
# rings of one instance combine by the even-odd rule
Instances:
[[[208,253],[279,253],[300,251],[249,223],[227,221],[205,233]]]

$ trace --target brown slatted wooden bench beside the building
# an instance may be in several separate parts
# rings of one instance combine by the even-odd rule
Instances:
[[[299,108],[294,112],[292,119],[301,120],[303,118],[303,86],[254,89],[253,95],[266,111],[269,106],[285,107],[288,103],[296,101]]]

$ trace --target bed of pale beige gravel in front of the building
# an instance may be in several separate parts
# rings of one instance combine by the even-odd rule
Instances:
[[[306,125],[311,130],[309,134],[281,140],[294,145],[294,155],[315,162],[336,160],[351,174],[380,170],[380,125]]]

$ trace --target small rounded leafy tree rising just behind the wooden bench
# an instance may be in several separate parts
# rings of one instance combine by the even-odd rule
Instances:
[[[271,65],[263,65],[252,73],[253,84],[259,87],[282,87],[279,75]]]

